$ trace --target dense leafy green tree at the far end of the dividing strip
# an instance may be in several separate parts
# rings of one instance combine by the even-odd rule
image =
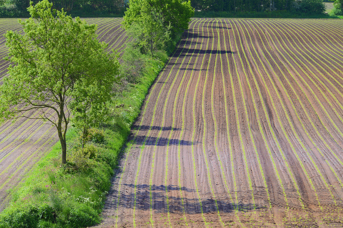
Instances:
[[[194,9],[187,0],[131,0],[125,12],[123,26],[138,38],[141,51],[149,46],[163,49],[163,45],[188,29]],[[133,28],[133,29],[132,29]]]

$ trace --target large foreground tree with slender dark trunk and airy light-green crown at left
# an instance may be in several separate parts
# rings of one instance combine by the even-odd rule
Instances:
[[[89,107],[79,106],[75,98],[97,100],[92,108],[108,99],[107,94],[97,96],[108,93],[117,78],[119,63],[115,55],[107,54],[106,44],[96,39],[96,25],[88,25],[79,17],[73,19],[63,11],[51,11],[51,7],[48,0],[36,5],[30,2],[31,18],[20,21],[24,35],[6,33],[8,60],[12,63],[9,76],[0,86],[0,120],[26,117],[55,125],[62,163],[66,163],[70,114],[75,108],[83,112]],[[97,93],[93,88],[92,92],[85,90],[88,85],[94,85]],[[39,114],[28,116],[29,110]]]

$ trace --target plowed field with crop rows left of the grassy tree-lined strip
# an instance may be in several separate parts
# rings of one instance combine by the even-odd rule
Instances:
[[[7,30],[22,31],[18,19],[0,19],[0,59],[7,55],[4,34]],[[108,51],[124,48],[126,33],[120,28],[122,18],[88,18],[98,25],[98,39],[108,43]],[[0,62],[0,84],[6,77],[9,62]],[[34,115],[34,112],[31,113]],[[0,211],[15,188],[33,165],[58,141],[56,128],[42,121],[19,119],[0,125]]]

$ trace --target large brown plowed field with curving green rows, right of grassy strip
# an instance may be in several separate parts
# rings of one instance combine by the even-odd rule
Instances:
[[[99,227],[343,227],[343,20],[193,19]]]

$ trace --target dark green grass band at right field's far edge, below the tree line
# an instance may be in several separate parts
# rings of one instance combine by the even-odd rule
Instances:
[[[286,10],[273,12],[214,12],[196,11],[194,17],[221,17],[221,18],[343,18],[328,14],[305,14]]]

